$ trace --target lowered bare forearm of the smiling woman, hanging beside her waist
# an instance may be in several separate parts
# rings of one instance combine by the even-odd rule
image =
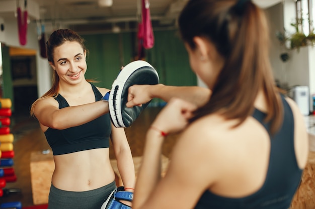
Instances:
[[[124,128],[116,128],[112,125],[111,135],[118,170],[125,188],[133,192],[135,185],[134,164],[128,140]]]

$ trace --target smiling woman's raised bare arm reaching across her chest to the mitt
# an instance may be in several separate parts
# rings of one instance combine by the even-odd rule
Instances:
[[[34,109],[34,115],[42,125],[55,129],[82,125],[108,112],[108,102],[105,101],[59,109],[58,102],[52,97],[39,100]]]

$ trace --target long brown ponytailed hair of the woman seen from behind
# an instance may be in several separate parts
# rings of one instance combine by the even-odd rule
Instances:
[[[253,113],[258,91],[267,99],[266,122],[275,133],[282,123],[282,103],[269,61],[269,29],[264,12],[248,0],[190,0],[179,17],[181,37],[192,49],[193,38],[206,37],[225,59],[211,99],[197,118],[220,110],[238,125]],[[192,120],[192,121],[193,121]]]

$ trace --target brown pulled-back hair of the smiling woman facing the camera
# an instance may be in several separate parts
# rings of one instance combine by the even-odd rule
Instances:
[[[46,42],[46,51],[47,51],[47,60],[48,62],[54,64],[53,56],[54,56],[54,50],[56,47],[61,46],[65,42],[77,42],[79,43],[83,50],[88,54],[89,51],[85,46],[85,40],[78,35],[76,32],[69,30],[69,29],[59,29],[54,31],[48,41]],[[93,80],[88,80],[89,82],[94,82]],[[34,116],[34,108],[36,103],[44,98],[47,97],[56,97],[59,93],[59,76],[57,72],[54,70],[52,75],[52,87],[39,99],[37,99],[31,106],[30,113],[32,116]]]

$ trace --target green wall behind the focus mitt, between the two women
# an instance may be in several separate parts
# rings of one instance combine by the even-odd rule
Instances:
[[[90,51],[87,59],[87,79],[99,81],[97,86],[111,88],[121,66],[137,55],[136,34],[83,35]],[[155,31],[154,47],[145,51],[145,60],[159,73],[160,83],[175,86],[197,85],[191,71],[188,54],[177,31]]]

